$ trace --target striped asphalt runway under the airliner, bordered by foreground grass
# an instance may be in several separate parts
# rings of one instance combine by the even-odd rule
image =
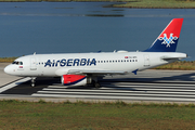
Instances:
[[[29,78],[22,78],[1,87],[0,96],[195,102],[194,76],[195,72],[145,70],[135,76],[105,77],[99,89],[64,87],[57,78],[38,78],[32,88]]]

